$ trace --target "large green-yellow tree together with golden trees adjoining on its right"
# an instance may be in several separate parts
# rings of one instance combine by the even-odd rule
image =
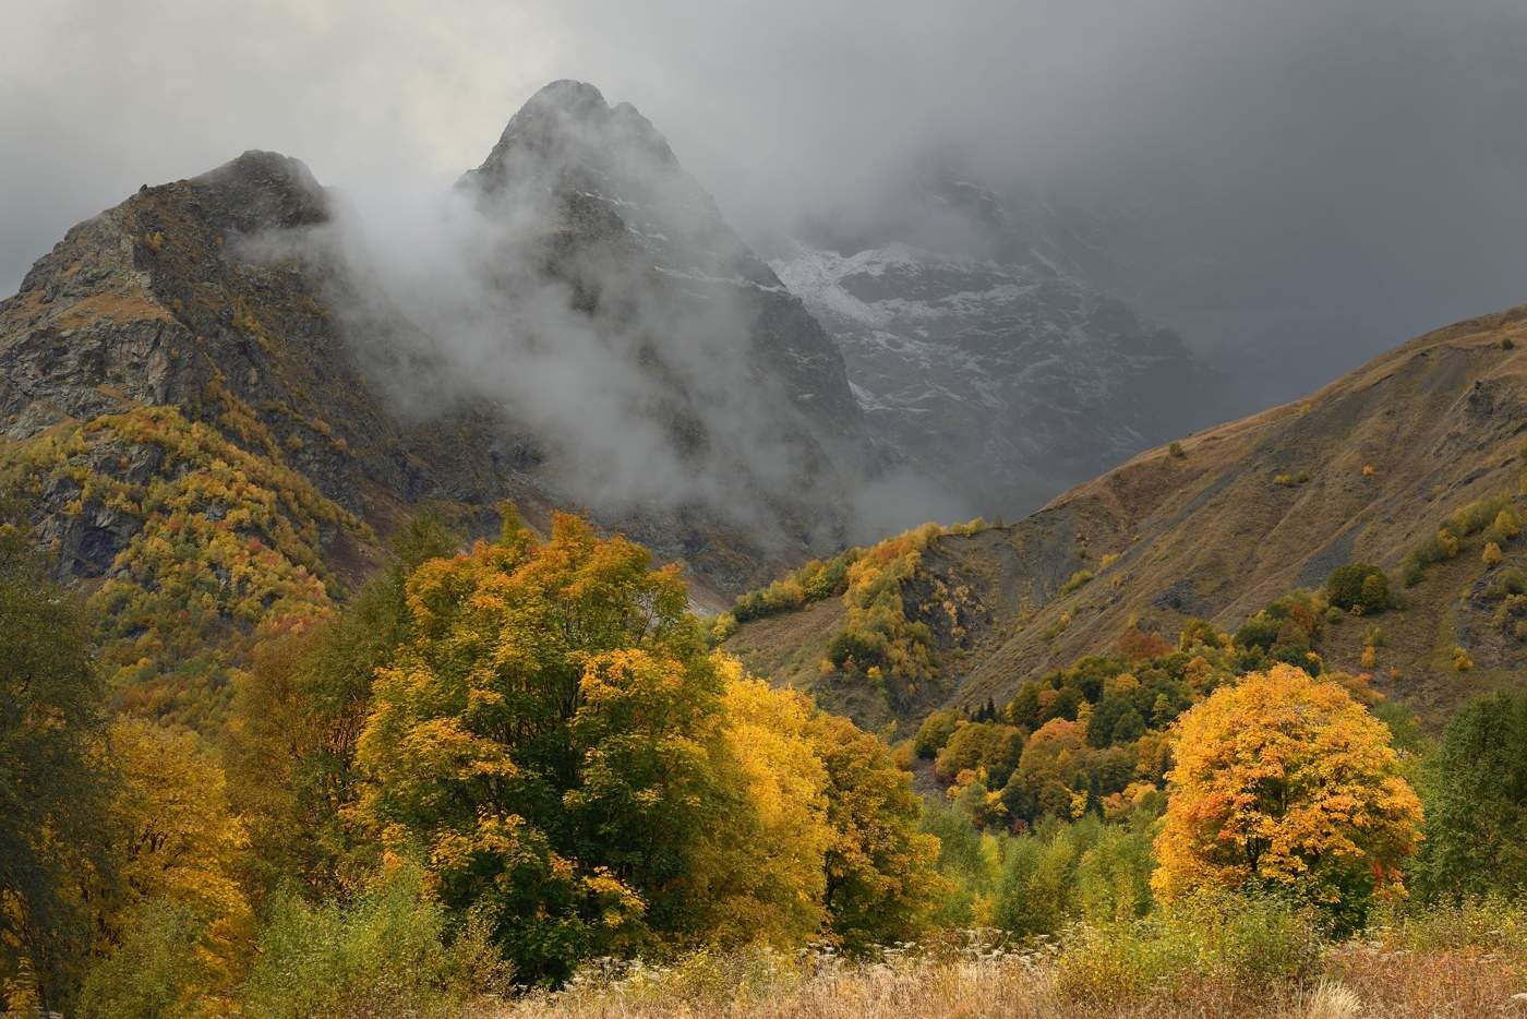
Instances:
[[[931,851],[889,752],[713,654],[675,567],[560,515],[418,565],[348,813],[527,981],[654,940],[912,930]],[[867,742],[866,742],[867,741]]]

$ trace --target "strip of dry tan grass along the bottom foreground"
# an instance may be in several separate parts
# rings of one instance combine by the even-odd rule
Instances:
[[[1252,988],[1203,979],[1122,1001],[1067,996],[1051,955],[829,962],[803,972],[754,956],[733,966],[646,970],[589,979],[479,1014],[492,1019],[1420,1019],[1527,1016],[1527,979],[1509,959],[1477,952],[1393,952],[1348,946],[1304,984]]]

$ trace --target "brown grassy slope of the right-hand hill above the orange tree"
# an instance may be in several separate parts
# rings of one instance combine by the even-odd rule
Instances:
[[[1385,567],[1403,590],[1400,561],[1446,515],[1516,492],[1527,467],[1516,452],[1527,431],[1524,344],[1527,307],[1460,322],[1306,400],[1186,437],[1182,457],[1153,449],[1017,524],[935,539],[922,574],[968,584],[985,619],[941,649],[953,701],[1002,703],[1026,678],[1112,651],[1132,620],[1165,636],[1196,616],[1234,629],[1348,561]],[[1275,483],[1306,472],[1303,483]],[[1527,643],[1490,622],[1480,545],[1475,536],[1432,567],[1402,610],[1330,626],[1330,665],[1356,669],[1362,634],[1379,623],[1387,646],[1374,684],[1426,717],[1515,681]],[[1524,547],[1510,542],[1507,564],[1527,565]],[[1118,561],[1104,568],[1109,555]],[[1060,594],[1080,568],[1096,579]],[[913,616],[918,584],[906,588]],[[733,637],[748,640],[747,626]],[[1454,645],[1469,649],[1472,672],[1452,669]],[[788,678],[773,665],[765,671]]]

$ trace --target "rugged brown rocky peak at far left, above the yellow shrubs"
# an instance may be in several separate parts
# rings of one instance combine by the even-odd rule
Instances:
[[[368,387],[327,302],[345,286],[339,273],[243,249],[327,220],[328,199],[301,162],[246,153],[200,177],[145,186],[69,231],[0,304],[9,448],[84,426],[105,440],[76,467],[147,492],[197,464],[166,466],[163,445],[108,425],[173,408],[176,420],[290,471],[382,530],[425,498],[490,503],[513,492],[501,435],[479,431],[469,461],[420,455],[444,425],[406,426]],[[63,512],[79,492],[58,477],[41,495],[37,522],[73,574],[110,573],[142,524],[89,503]],[[339,539],[328,529],[324,544]]]

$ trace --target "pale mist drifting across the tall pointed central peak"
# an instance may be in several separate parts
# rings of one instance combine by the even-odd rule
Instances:
[[[545,89],[454,186],[328,206],[231,251],[315,267],[394,412],[487,412],[563,504],[699,512],[779,550],[970,515],[878,463],[841,374],[832,400],[828,336],[652,125],[588,86]],[[782,374],[799,357],[805,388]]]

